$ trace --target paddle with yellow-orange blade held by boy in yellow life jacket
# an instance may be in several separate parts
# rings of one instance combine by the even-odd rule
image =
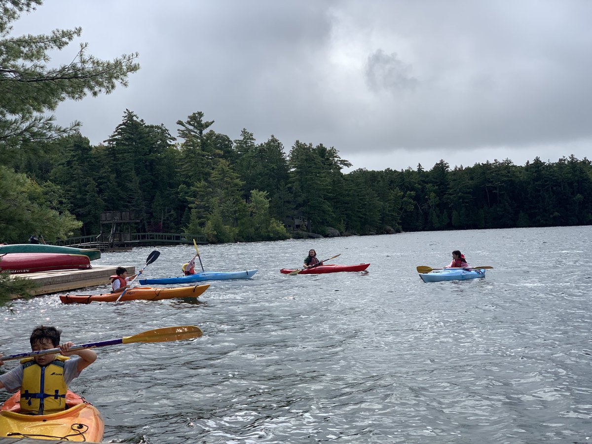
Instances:
[[[185,339],[193,339],[200,337],[202,334],[200,327],[185,325],[180,327],[165,327],[163,329],[147,330],[146,332],[134,334],[134,336],[120,337],[119,339],[111,339],[107,341],[90,342],[88,344],[75,345],[70,347],[70,352],[73,350],[92,349],[95,347],[104,347],[107,345],[130,344],[133,342],[168,342],[180,341]],[[29,358],[30,356],[50,355],[51,353],[59,353],[60,349],[39,350],[38,352],[18,353],[18,355],[6,356],[0,358],[0,361],[11,361],[11,359]]]

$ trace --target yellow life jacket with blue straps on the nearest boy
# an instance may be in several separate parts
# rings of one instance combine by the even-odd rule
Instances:
[[[56,358],[42,367],[34,358],[21,359],[21,413],[50,414],[66,410],[64,363],[70,358]]]

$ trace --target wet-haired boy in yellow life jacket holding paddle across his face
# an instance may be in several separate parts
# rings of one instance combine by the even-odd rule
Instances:
[[[21,365],[0,375],[0,388],[21,391],[21,411],[24,414],[50,414],[66,409],[66,391],[72,379],[96,360],[93,350],[68,350],[73,342],[60,343],[60,330],[56,327],[35,327],[31,333],[31,350],[60,348],[60,353],[36,355],[21,359]],[[78,355],[75,358],[67,358]],[[2,355],[0,354],[0,365]]]

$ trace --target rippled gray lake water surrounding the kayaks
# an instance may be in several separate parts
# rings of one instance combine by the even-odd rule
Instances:
[[[75,343],[199,326],[191,341],[97,349],[70,388],[102,412],[105,442],[588,443],[590,239],[587,226],[203,245],[206,270],[258,274],[213,281],[198,300],[14,301],[0,308],[0,345],[27,351],[37,324]],[[371,266],[279,274],[310,248]],[[93,263],[139,269],[153,249]],[[179,275],[194,253],[157,249],[146,277]],[[447,265],[454,249],[494,269],[424,284],[416,266]]]

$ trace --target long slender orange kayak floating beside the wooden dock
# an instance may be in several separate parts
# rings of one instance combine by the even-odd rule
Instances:
[[[153,288],[134,287],[128,289],[120,301],[162,301],[174,298],[197,298],[210,284],[194,285],[193,287]],[[60,301],[64,304],[90,304],[91,302],[115,302],[119,293],[108,294],[63,294]]]

